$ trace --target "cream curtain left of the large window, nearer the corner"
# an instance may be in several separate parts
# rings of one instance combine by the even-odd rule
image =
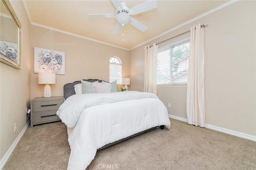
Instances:
[[[158,44],[146,46],[145,51],[145,68],[144,68],[144,92],[156,94],[156,66]]]

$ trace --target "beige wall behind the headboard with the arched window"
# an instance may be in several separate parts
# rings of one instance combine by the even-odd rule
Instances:
[[[63,34],[46,28],[31,26],[31,99],[42,97],[44,84],[38,84],[34,73],[34,47],[65,52],[65,75],[56,75],[51,84],[52,96],[63,96],[63,86],[76,80],[98,78],[109,81],[109,59],[118,56],[122,61],[122,76],[129,77],[129,51]]]

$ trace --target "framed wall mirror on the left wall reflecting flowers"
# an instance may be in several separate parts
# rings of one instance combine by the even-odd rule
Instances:
[[[22,29],[8,0],[0,0],[0,61],[22,69]]]

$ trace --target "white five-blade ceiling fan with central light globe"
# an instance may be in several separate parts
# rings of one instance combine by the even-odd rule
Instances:
[[[116,8],[116,14],[89,14],[88,17],[93,19],[94,18],[115,18],[117,24],[113,34],[117,34],[118,32],[120,32],[121,28],[122,27],[124,28],[124,26],[129,23],[132,26],[138,28],[142,32],[146,31],[148,27],[142,24],[141,22],[139,22],[138,20],[132,18],[131,16],[157,8],[156,0],[148,0],[130,9],[128,8],[125,2],[120,2],[120,0],[111,0],[111,1]]]

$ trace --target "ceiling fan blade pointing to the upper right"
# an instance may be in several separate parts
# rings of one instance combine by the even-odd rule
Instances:
[[[133,8],[130,9],[130,11],[132,11],[132,15],[136,15],[148,10],[152,10],[154,8],[157,8],[156,0],[148,0],[142,4],[134,6]]]

